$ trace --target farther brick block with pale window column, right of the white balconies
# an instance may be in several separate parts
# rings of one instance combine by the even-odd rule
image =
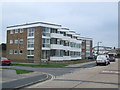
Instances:
[[[82,40],[81,57],[87,58],[88,56],[92,56],[93,55],[93,53],[92,53],[92,43],[93,43],[92,38],[80,37],[80,39]]]

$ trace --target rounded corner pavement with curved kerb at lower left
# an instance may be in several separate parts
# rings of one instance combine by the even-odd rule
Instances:
[[[11,76],[10,77],[2,76],[2,88],[3,89],[23,88],[31,84],[49,80],[51,78],[52,78],[51,75],[41,72],[21,74],[18,75],[18,77],[14,77],[14,78],[11,78]]]

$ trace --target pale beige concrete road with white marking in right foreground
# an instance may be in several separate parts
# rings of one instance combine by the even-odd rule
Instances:
[[[26,88],[118,88],[119,75],[117,59],[108,66],[77,69],[72,73],[56,76],[51,81],[37,83]]]

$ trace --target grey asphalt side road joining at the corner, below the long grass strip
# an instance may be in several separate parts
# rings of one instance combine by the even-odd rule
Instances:
[[[4,67],[24,69],[24,70],[33,70],[33,71],[49,73],[49,74],[52,74],[54,76],[60,76],[60,75],[64,75],[67,73],[72,73],[76,70],[95,67],[95,66],[96,66],[95,62],[92,62],[92,63],[90,62],[90,63],[82,64],[78,67],[64,67],[64,68],[24,67],[24,66],[4,66]]]

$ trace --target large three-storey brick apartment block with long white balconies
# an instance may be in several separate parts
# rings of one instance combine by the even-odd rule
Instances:
[[[61,25],[36,22],[7,27],[7,58],[17,62],[63,61],[81,59],[79,34]],[[85,57],[92,44],[85,39]],[[91,40],[90,40],[91,41]]]

